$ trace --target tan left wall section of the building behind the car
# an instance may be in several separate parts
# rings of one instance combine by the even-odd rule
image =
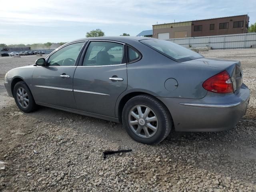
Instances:
[[[185,34],[184,32],[186,31],[187,37],[191,37],[191,22],[153,25],[154,38],[158,38],[158,33],[169,33],[169,38],[174,38],[174,33],[179,31],[182,32],[182,34]]]

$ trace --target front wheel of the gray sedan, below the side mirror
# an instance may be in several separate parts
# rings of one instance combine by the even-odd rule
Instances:
[[[30,113],[36,110],[37,105],[35,103],[35,100],[24,81],[20,81],[15,84],[13,96],[18,108],[20,108],[20,110],[22,110],[23,112]]]

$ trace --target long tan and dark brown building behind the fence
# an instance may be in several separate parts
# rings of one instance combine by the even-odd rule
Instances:
[[[247,33],[249,16],[238,15],[187,22],[153,25],[153,37],[158,39],[214,36]]]

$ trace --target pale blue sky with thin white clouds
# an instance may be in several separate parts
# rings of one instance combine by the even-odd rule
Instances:
[[[136,36],[152,25],[248,14],[256,0],[0,0],[0,43],[68,42],[101,29]]]

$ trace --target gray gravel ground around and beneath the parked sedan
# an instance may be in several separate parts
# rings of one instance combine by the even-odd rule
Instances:
[[[251,90],[246,115],[234,129],[172,131],[153,146],[113,122],[45,107],[24,114],[7,97],[3,78],[35,58],[0,57],[0,191],[256,191],[256,49],[201,54],[241,60]],[[104,160],[107,149],[132,152]]]

